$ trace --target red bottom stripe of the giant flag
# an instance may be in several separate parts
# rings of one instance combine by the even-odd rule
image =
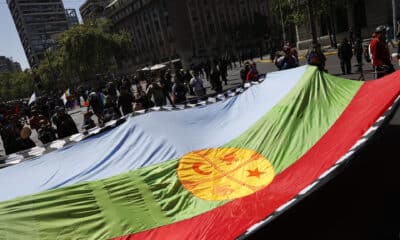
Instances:
[[[332,167],[393,104],[399,89],[400,72],[366,82],[331,129],[267,188],[191,219],[115,240],[235,239]]]

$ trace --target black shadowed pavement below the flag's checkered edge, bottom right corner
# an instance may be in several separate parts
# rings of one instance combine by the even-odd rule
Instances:
[[[342,173],[248,239],[400,239],[399,138],[400,125],[386,126]]]

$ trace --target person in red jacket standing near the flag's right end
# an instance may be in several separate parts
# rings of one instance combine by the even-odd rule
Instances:
[[[389,49],[386,44],[386,27],[379,26],[375,30],[375,36],[369,45],[372,65],[376,70],[376,77],[381,78],[394,72],[390,59]]]

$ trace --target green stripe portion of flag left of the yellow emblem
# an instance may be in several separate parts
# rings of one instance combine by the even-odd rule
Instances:
[[[190,218],[224,203],[185,191],[177,167],[177,160],[169,161],[0,203],[0,236],[109,239]]]

